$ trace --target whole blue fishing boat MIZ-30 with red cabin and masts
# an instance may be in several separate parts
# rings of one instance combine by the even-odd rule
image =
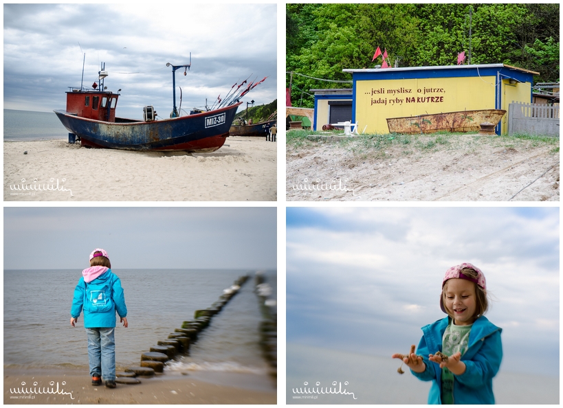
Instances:
[[[153,106],[144,106],[143,120],[116,117],[115,106],[121,89],[118,93],[107,91],[104,79],[108,74],[104,71],[105,65],[102,65],[102,70],[98,72],[98,84],[94,82],[93,89],[82,85],[80,88],[69,87],[66,110],[54,111],[69,131],[69,141],[78,138],[82,146],[124,150],[212,152],[221,148],[229,136],[236,109],[243,103],[240,102],[241,98],[263,80],[250,82],[242,89],[246,80],[236,89],[234,84],[228,95],[223,100],[218,98],[217,106],[212,109],[194,109],[189,115],[180,116],[176,109],[175,72],[184,68],[186,75],[186,70],[191,66],[191,57],[190,64],[167,63],[166,66],[172,67],[173,74],[173,111],[170,118],[157,118]]]

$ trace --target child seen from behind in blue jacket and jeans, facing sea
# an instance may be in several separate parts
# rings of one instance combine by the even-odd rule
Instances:
[[[84,327],[88,336],[88,359],[92,385],[115,388],[115,311],[124,327],[127,306],[120,278],[111,272],[107,252],[96,248],[90,253],[90,267],[74,289],[70,324],[74,327],[84,310]]]

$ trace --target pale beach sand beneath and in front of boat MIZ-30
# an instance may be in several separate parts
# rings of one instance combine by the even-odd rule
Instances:
[[[4,201],[277,199],[278,144],[261,137],[228,137],[219,150],[201,154],[92,149],[65,140],[3,146]]]

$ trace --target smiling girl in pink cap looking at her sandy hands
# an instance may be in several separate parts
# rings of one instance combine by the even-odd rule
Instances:
[[[487,311],[485,275],[472,264],[446,271],[440,307],[448,317],[422,328],[418,354],[393,354],[410,372],[432,381],[429,404],[494,404],[493,377],[503,359],[501,328]]]

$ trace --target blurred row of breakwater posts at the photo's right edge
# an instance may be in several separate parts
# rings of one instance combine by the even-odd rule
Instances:
[[[262,354],[269,364],[269,374],[278,376],[278,313],[276,299],[272,299],[270,286],[261,272],[256,273],[256,295],[260,302],[262,320],[260,322],[260,346]]]

